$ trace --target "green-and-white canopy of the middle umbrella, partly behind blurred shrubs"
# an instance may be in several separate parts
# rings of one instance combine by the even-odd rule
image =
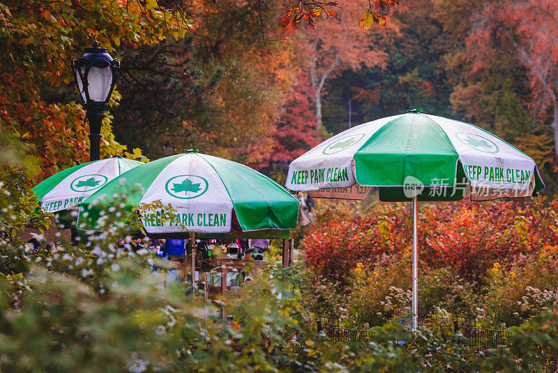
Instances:
[[[158,211],[142,211],[148,234],[229,233],[235,227],[243,232],[288,230],[296,228],[299,217],[306,218],[299,201],[269,177],[240,163],[189,150],[108,182],[84,200],[87,219],[80,214],[78,227],[99,228],[97,201],[121,195],[123,186],[135,186],[127,195],[131,205],[160,200],[176,210],[167,221],[159,219]]]

